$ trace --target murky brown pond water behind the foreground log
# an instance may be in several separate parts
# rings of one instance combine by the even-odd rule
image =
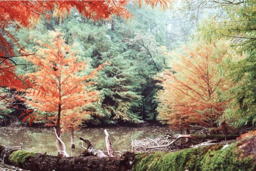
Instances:
[[[100,150],[106,150],[105,133],[104,129],[107,129],[110,135],[110,141],[112,143],[113,150],[128,150],[131,151],[131,140],[141,139],[145,137],[153,138],[168,133],[174,133],[169,130],[168,127],[160,126],[143,126],[143,127],[100,127],[100,128],[84,128],[79,131],[75,131],[75,143],[79,145],[85,145],[79,140],[82,136],[95,143],[95,147]],[[56,139],[53,128],[32,128],[21,127],[14,129],[0,129],[0,132],[5,134],[7,138],[15,142],[21,142],[23,137],[23,150],[36,152],[36,153],[52,153],[56,155]],[[4,138],[0,134],[0,145],[9,145],[11,147],[18,148],[18,144],[11,140]],[[70,133],[66,132],[61,136],[62,141],[66,144],[67,153],[71,153]],[[84,148],[76,146],[75,155],[79,154]]]

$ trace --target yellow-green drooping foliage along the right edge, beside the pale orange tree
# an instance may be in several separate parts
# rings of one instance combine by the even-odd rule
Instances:
[[[216,24],[207,25],[207,35],[216,35],[231,40],[231,46],[244,58],[229,62],[228,78],[233,87],[225,94],[224,100],[230,101],[223,116],[235,126],[254,125],[256,123],[256,3],[246,0],[244,3],[224,7],[226,17]],[[206,38],[210,38],[206,36]]]

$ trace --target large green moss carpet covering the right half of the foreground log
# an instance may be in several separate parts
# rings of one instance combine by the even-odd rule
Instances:
[[[213,145],[189,148],[173,153],[155,152],[149,155],[138,154],[134,160],[134,171],[184,171],[218,170],[252,171],[255,161],[250,156],[243,156],[238,142],[230,145]]]

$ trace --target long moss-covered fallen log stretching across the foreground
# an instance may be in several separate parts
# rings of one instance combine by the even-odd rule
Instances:
[[[122,157],[58,157],[0,146],[8,165],[31,171],[256,170],[256,136],[177,152],[125,153]]]

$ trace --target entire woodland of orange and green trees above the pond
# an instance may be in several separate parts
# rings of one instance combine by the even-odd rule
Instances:
[[[0,7],[1,127],[54,127],[62,152],[85,126],[256,134],[255,0]]]

